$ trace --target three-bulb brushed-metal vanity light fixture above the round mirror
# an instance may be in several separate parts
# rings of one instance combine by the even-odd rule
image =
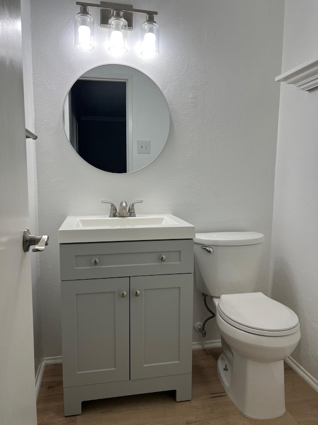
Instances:
[[[92,36],[94,20],[88,13],[88,7],[96,7],[100,9],[100,26],[109,28],[108,50],[110,52],[116,54],[127,52],[127,30],[133,29],[133,13],[144,13],[146,20],[141,25],[141,54],[149,58],[159,54],[159,25],[155,21],[155,15],[158,15],[158,12],[134,9],[131,4],[108,1],[101,1],[100,4],[77,1],[76,4],[80,6],[75,23],[75,46],[77,48],[81,50],[94,48]],[[89,46],[90,48],[87,48]]]

